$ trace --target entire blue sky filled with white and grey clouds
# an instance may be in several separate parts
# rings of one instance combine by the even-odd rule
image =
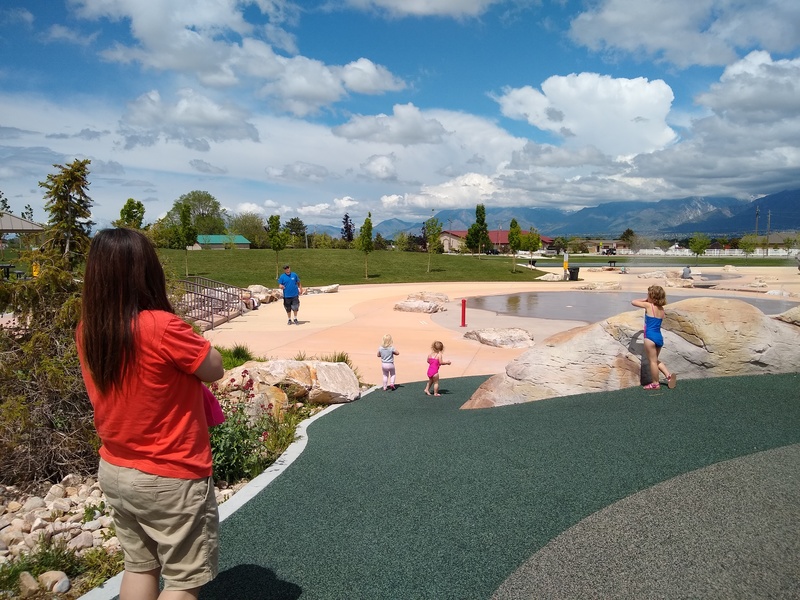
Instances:
[[[10,0],[0,191],[45,220],[89,158],[101,227],[755,198],[800,187],[798,99],[796,0]]]

